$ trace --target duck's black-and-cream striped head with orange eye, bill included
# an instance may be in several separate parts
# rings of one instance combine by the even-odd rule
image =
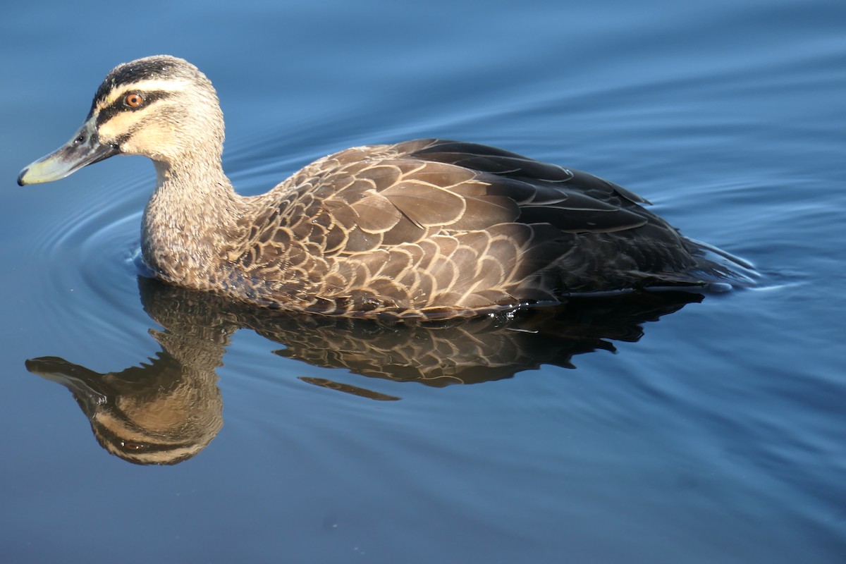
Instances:
[[[113,68],[71,140],[20,172],[18,183],[52,182],[113,155],[142,155],[166,167],[220,162],[223,115],[217,94],[191,63],[145,57]]]

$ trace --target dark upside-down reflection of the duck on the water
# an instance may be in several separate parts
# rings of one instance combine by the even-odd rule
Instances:
[[[146,312],[164,328],[151,330],[162,345],[154,359],[106,374],[57,357],[26,363],[74,394],[103,448],[139,464],[182,462],[217,435],[222,400],[215,370],[240,328],[283,343],[277,354],[289,359],[447,386],[500,380],[541,364],[572,367],[574,354],[613,350],[609,339],[637,341],[643,322],[701,299],[695,293],[580,298],[555,309],[409,325],[247,308],[143,277],[139,285]],[[398,399],[329,380],[301,380],[373,400]]]

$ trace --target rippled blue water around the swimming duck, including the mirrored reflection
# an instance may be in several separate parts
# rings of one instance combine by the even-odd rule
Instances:
[[[3,561],[846,560],[844,21],[798,0],[3,8]],[[244,194],[347,146],[471,140],[621,183],[764,283],[406,331],[139,285],[149,163],[14,178],[158,52],[217,86]],[[180,384],[208,444],[176,465],[109,454],[80,409],[176,418]]]

